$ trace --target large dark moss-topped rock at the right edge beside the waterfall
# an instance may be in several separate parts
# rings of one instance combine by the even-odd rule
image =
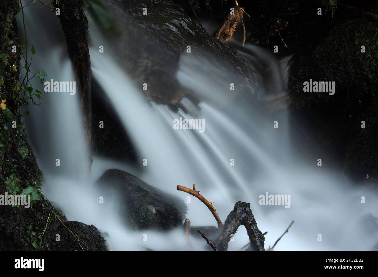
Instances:
[[[377,32],[374,22],[341,20],[319,38],[314,51],[294,59],[289,82],[291,109],[316,122],[322,147],[358,184],[376,184],[378,179]],[[361,46],[369,51],[361,53]],[[310,79],[334,81],[335,95],[304,92],[303,83]]]

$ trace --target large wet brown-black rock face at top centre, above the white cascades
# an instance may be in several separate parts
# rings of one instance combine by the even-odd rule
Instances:
[[[137,87],[144,83],[146,98],[167,104],[172,110],[184,109],[183,97],[195,104],[195,94],[176,77],[182,55],[203,56],[219,65],[220,74],[234,80],[239,92],[251,98],[256,94],[254,70],[249,58],[209,37],[183,8],[172,0],[105,1],[118,32],[111,39],[114,50]],[[143,14],[143,9],[147,14]],[[187,53],[187,46],[191,52]],[[232,76],[230,75],[230,72]]]

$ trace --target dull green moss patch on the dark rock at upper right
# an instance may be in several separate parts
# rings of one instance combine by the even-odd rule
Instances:
[[[376,89],[378,83],[378,26],[375,22],[352,20],[336,26],[315,51],[324,80],[339,88],[357,86]],[[361,46],[366,52],[361,52]]]

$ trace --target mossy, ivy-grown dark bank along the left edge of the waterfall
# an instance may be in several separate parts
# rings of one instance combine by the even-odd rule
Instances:
[[[13,116],[21,104],[15,101],[21,49],[14,17],[19,9],[18,0],[0,1],[0,97],[7,100],[6,109],[0,109],[0,194],[25,192],[35,203],[29,208],[0,205],[0,250],[105,250],[105,240],[94,226],[67,222],[37,187],[42,173],[20,116]],[[60,243],[56,234],[63,239]]]

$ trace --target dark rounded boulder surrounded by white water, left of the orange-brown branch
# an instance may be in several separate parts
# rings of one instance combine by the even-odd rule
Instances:
[[[110,169],[97,181],[104,191],[116,195],[130,228],[168,230],[180,225],[186,205],[178,197],[154,188],[127,172]],[[105,194],[106,195],[106,194]]]

